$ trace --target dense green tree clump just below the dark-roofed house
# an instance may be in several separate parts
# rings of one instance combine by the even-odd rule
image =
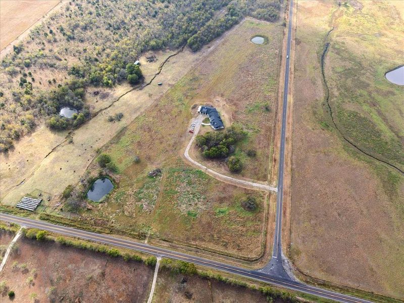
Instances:
[[[242,162],[236,156],[230,156],[235,151],[235,144],[246,137],[247,133],[241,127],[232,125],[224,132],[211,131],[196,136],[196,146],[202,150],[202,155],[209,159],[225,159],[231,172],[239,173]],[[230,156],[230,157],[229,157]]]

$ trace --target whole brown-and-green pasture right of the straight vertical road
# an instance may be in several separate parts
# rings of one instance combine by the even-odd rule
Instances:
[[[402,48],[400,2],[299,1],[289,256],[305,275],[404,297],[402,88],[384,78]],[[326,37],[332,27],[328,38]],[[390,142],[390,143],[386,143]]]

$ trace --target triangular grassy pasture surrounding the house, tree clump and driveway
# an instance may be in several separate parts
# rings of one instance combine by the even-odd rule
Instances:
[[[279,44],[281,32],[279,25],[244,21],[228,32],[209,56],[178,81],[155,106],[137,117],[100,150],[100,153],[110,155],[118,166],[119,188],[106,203],[84,212],[83,216],[95,216],[116,225],[141,229],[150,234],[149,242],[167,240],[240,258],[260,257],[265,239],[268,197],[259,191],[215,180],[192,168],[183,153],[191,138],[188,127],[192,106],[215,103],[218,96],[227,105],[224,114],[231,116],[233,121],[241,117],[240,122],[247,125],[247,130],[248,125],[257,128],[261,125],[268,130],[265,133],[249,132],[250,144],[258,146],[262,156],[255,162],[251,161],[250,166],[246,165],[250,172],[268,167],[269,150],[266,149],[271,145],[273,113],[258,107],[257,115],[267,117],[268,121],[248,116],[248,106],[259,102],[265,95],[261,94],[263,88],[252,88],[251,94],[259,91],[257,97],[237,95],[234,91],[240,90],[237,84],[243,68],[253,77],[252,70],[247,68],[249,63],[260,74],[260,64],[268,68],[265,63],[268,56],[276,58],[279,46],[273,46],[271,51],[270,43]],[[249,39],[256,33],[272,38],[260,54],[249,45]],[[268,55],[268,52],[273,54]],[[268,71],[265,75],[270,82]],[[276,82],[276,71],[273,77]],[[271,98],[268,97],[267,102],[271,102]],[[260,135],[265,142],[257,139]],[[255,145],[258,142],[262,145]],[[135,156],[140,158],[140,163],[135,163]],[[98,164],[94,161],[89,168],[96,172]],[[149,178],[147,173],[156,168],[162,170],[162,175]],[[268,168],[263,171],[264,176]],[[258,206],[252,212],[242,208],[242,202],[249,196],[256,198]]]

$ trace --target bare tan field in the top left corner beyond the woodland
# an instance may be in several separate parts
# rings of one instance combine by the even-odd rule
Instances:
[[[59,3],[60,0],[0,1],[0,50]]]

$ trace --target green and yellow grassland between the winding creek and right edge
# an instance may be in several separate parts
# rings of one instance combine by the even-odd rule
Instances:
[[[404,25],[398,13],[382,3],[336,11],[325,76],[341,131],[367,153],[404,171],[404,90],[384,76],[402,64],[398,37]]]

